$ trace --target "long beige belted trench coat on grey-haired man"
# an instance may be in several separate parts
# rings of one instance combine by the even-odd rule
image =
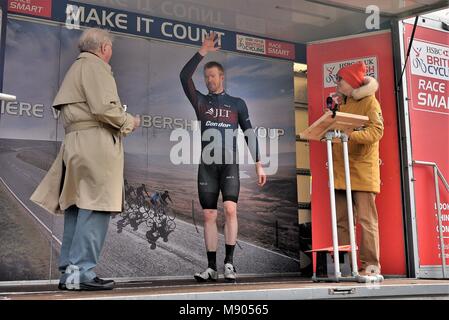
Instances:
[[[53,213],[72,205],[122,211],[122,138],[133,130],[134,120],[123,110],[110,65],[92,53],[81,53],[53,108],[61,111],[66,135],[31,200]]]

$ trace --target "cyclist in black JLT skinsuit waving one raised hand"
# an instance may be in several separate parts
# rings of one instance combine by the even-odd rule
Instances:
[[[266,175],[259,161],[257,138],[251,126],[248,109],[242,99],[232,97],[224,91],[223,66],[217,62],[209,62],[204,66],[204,80],[209,90],[207,95],[197,91],[193,83],[192,75],[203,57],[209,52],[217,50],[219,48],[216,46],[215,34],[211,33],[204,39],[201,49],[187,62],[180,74],[184,92],[195,109],[197,119],[201,122],[202,138],[204,139],[209,134],[213,137],[211,142],[202,139],[203,152],[198,168],[198,194],[204,214],[204,238],[208,259],[206,271],[195,274],[195,279],[198,281],[218,279],[216,263],[217,201],[220,191],[223,196],[226,221],[224,276],[228,281],[236,279],[233,252],[237,241],[237,202],[240,179],[239,165],[236,161],[236,135],[234,134],[231,141],[228,141],[227,133],[232,134],[240,126],[245,133],[250,153],[256,162],[259,186],[263,186],[266,182]],[[210,148],[210,146],[214,148]]]

